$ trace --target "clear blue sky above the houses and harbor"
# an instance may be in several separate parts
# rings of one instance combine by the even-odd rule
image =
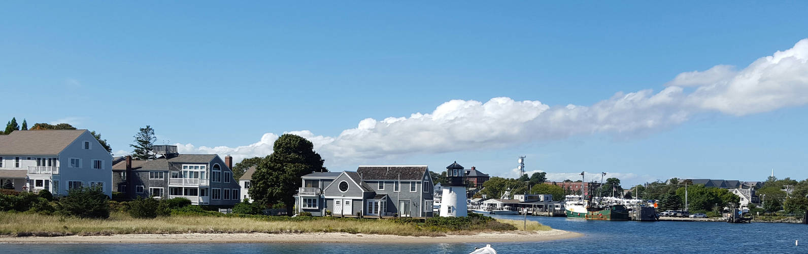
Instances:
[[[457,160],[513,177],[517,156],[527,155],[528,171],[559,180],[605,171],[629,183],[761,181],[772,169],[805,179],[804,62],[783,85],[760,85],[790,94],[764,90],[760,98],[784,103],[760,110],[749,109],[766,102],[749,97],[727,108],[709,98],[693,106],[704,97],[692,96],[610,115],[613,126],[688,113],[650,127],[605,130],[576,119],[476,130],[541,109],[491,117],[469,104],[510,98],[594,109],[618,92],[652,96],[680,85],[694,93],[677,75],[716,65],[743,73],[808,38],[804,10],[806,2],[2,2],[0,119],[74,123],[102,133],[116,154],[131,151],[137,128],[149,124],[158,143],[237,158],[265,155],[273,135],[310,131],[331,170],[439,171]],[[462,100],[447,106],[461,117],[410,123],[451,100]],[[408,120],[381,123],[388,117]],[[368,118],[376,128],[340,136]],[[440,132],[441,123],[452,125]]]

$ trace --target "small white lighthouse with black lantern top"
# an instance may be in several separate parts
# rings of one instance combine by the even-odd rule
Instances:
[[[443,185],[443,198],[440,202],[441,217],[465,217],[469,213],[465,202],[465,169],[457,161],[446,167],[448,182]]]

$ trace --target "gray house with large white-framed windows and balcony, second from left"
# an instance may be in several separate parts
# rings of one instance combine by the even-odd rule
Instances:
[[[233,157],[179,154],[177,146],[156,145],[154,160],[116,158],[112,169],[115,188],[125,198],[187,198],[193,205],[234,206],[241,188],[230,169]]]

